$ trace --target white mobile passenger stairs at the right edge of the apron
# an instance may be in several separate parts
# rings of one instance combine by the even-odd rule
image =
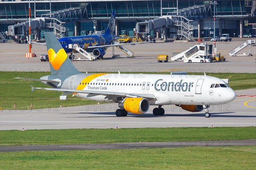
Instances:
[[[231,50],[229,52],[230,56],[252,56],[252,46],[255,45],[255,42],[256,42],[256,40],[246,40],[246,41],[242,42],[241,44],[236,46],[236,48],[234,48],[233,50]],[[248,54],[246,54],[246,53],[237,54],[239,51],[241,51],[248,45],[249,45],[249,53]]]

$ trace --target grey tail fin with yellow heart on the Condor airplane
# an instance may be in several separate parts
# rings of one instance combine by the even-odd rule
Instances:
[[[52,75],[73,75],[80,73],[62,48],[53,32],[45,32],[46,46]]]

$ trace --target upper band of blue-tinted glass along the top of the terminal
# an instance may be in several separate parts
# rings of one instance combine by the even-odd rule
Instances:
[[[39,1],[34,6],[31,1],[31,14],[34,16],[34,9],[36,7],[36,17],[41,17],[42,14],[49,13],[50,3],[48,1]],[[207,6],[212,0],[179,0],[179,9],[193,7],[193,6]],[[245,0],[218,0],[216,5],[216,15],[246,15],[251,14],[252,7],[245,6]],[[249,4],[250,5],[250,4]],[[177,0],[162,0],[163,8],[176,8]],[[86,1],[81,3],[72,2],[72,0],[64,0],[61,3],[56,1],[51,3],[52,12],[61,11],[68,8],[84,8],[85,15],[83,17],[99,18],[110,17],[112,10],[116,10],[116,17],[159,17],[161,14],[160,0],[135,0],[135,1]],[[213,13],[213,5],[211,5],[211,12]],[[42,11],[45,10],[45,11]],[[163,15],[172,13],[176,9],[163,9]],[[28,1],[11,1],[1,2],[0,19],[22,19],[29,17],[29,3]],[[255,11],[254,11],[255,13]],[[212,14],[211,14],[212,15]],[[72,17],[72,16],[68,16]]]

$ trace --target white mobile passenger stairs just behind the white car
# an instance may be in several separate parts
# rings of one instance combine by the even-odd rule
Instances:
[[[212,54],[212,44],[201,43],[200,45],[195,45],[180,54],[171,57],[172,61],[184,61],[184,59],[195,58],[198,56],[207,56]]]

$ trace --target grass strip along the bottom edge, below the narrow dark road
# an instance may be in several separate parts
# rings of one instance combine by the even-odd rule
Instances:
[[[1,170],[256,170],[256,146],[0,153]]]

